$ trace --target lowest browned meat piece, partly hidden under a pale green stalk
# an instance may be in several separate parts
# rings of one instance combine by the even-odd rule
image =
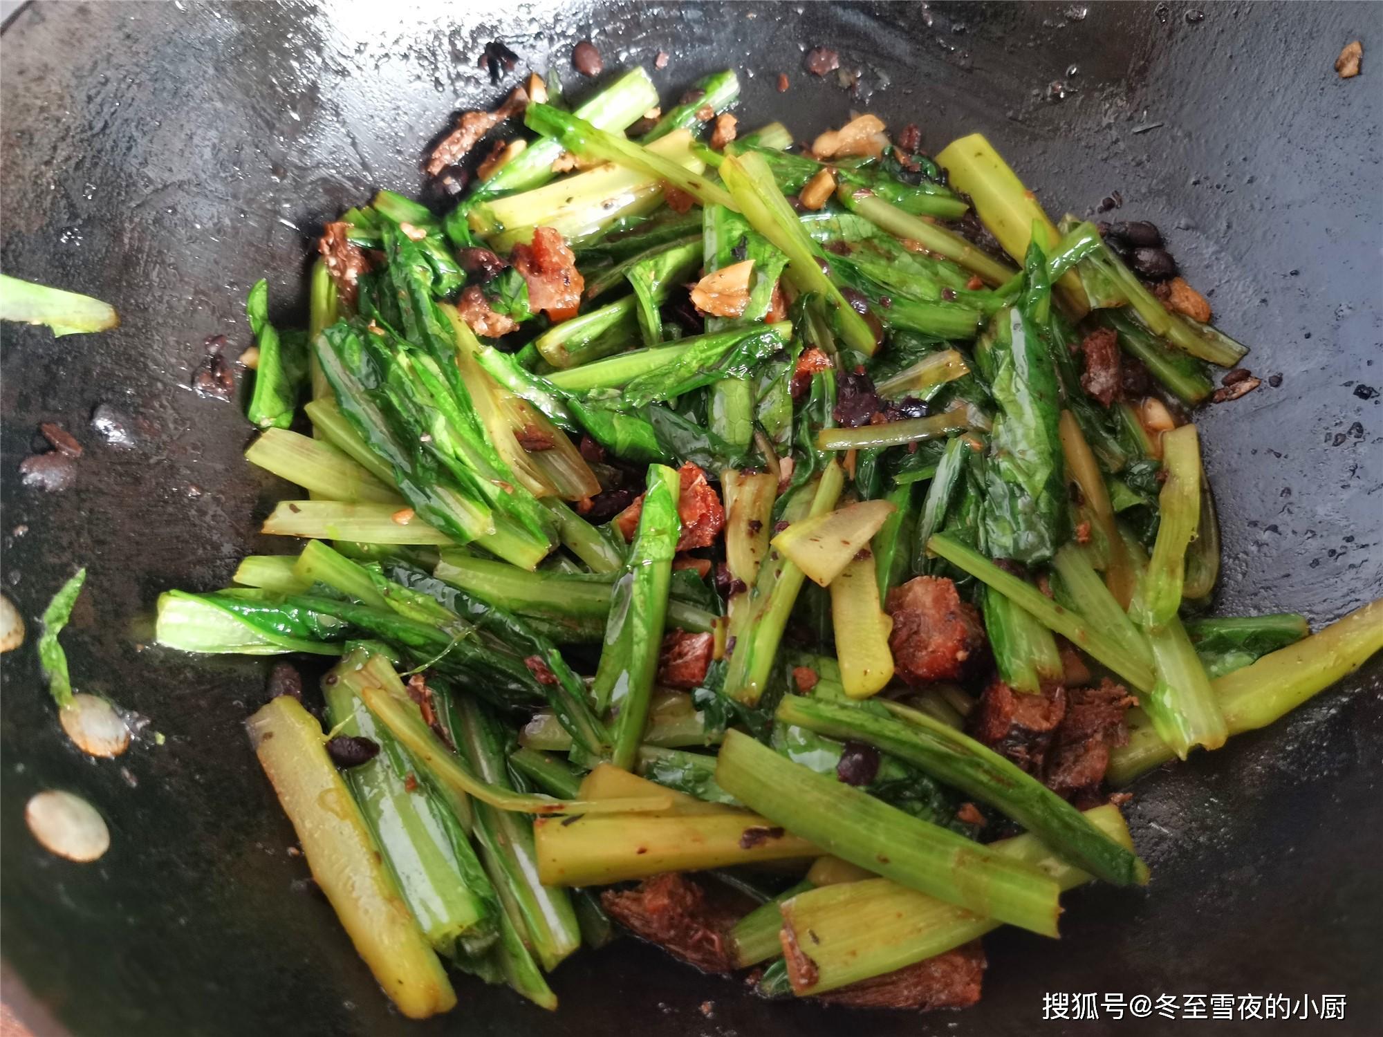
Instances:
[[[816,965],[802,954],[791,932],[781,936],[788,978],[794,987],[816,979]],[[979,1001],[985,979],[985,949],[979,940],[967,943],[916,965],[862,979],[846,987],[819,994],[823,1001],[855,1008],[968,1008]]]

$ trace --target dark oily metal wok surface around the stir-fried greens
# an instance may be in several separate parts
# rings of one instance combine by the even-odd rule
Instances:
[[[1376,1033],[1380,660],[1271,730],[1140,781],[1127,813],[1152,885],[1069,896],[1059,946],[987,937],[975,1009],[768,1004],[625,939],[556,972],[556,1015],[458,978],[461,1008],[412,1025],[329,907],[295,889],[307,868],[286,853],[293,832],[241,730],[267,662],[149,647],[148,614],[165,588],[221,586],[242,554],[285,549],[256,532],[285,487],[242,463],[243,408],[189,389],[203,342],[227,335],[232,357],[249,344],[241,307],[261,275],[275,318],[301,321],[321,223],[376,188],[416,192],[422,148],[449,113],[498,97],[476,66],[485,41],[517,51],[517,72],[553,65],[585,90],[570,54],[591,37],[606,77],[668,51],[654,73],[665,95],[725,65],[752,72],[750,122],[779,118],[799,136],[862,106],[801,71],[804,47],[830,44],[860,69],[871,111],[917,122],[927,147],[981,130],[1057,212],[1088,213],[1119,191],[1115,216],[1167,232],[1264,377],[1200,419],[1224,525],[1220,608],[1333,619],[1383,586],[1383,400],[1358,389],[1383,387],[1383,69],[1369,53],[1359,79],[1332,69],[1344,43],[1383,39],[1380,22],[1376,6],[1329,3],[21,10],[3,37],[0,260],[109,300],[123,324],[57,342],[4,326],[4,590],[33,621],[90,566],[65,635],[72,671],[167,740],[116,762],[82,758],[43,690],[35,636],[3,657],[4,997],[39,1034],[1001,1037],[1176,1025],[1043,1023],[1046,991],[1344,993],[1347,1018],[1329,1031]],[[102,402],[133,418],[131,448],[89,427]],[[86,445],[62,494],[19,483],[47,420]],[[24,803],[50,787],[108,819],[100,863],[50,857],[29,837]]]

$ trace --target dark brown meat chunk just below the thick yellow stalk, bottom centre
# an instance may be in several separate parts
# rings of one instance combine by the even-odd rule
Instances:
[[[678,874],[654,875],[636,889],[607,889],[600,903],[624,928],[674,958],[704,972],[732,971],[725,933],[739,915],[712,903],[692,879]]]

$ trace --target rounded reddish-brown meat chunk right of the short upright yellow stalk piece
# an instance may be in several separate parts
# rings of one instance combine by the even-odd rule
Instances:
[[[975,607],[942,577],[917,577],[889,590],[888,614],[895,672],[910,684],[956,680],[965,661],[985,647]]]

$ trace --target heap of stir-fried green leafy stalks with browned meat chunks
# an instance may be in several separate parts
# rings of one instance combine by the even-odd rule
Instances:
[[[1158,228],[737,94],[532,76],[431,155],[448,212],[326,225],[306,328],[249,295],[246,458],[306,546],[158,640],[322,662],[250,740],[408,1016],[449,969],[556,1008],[617,926],[768,997],[974,1004],[983,933],[1149,881],[1120,790],[1383,646],[1379,601],[1209,615],[1195,412],[1257,379]]]

